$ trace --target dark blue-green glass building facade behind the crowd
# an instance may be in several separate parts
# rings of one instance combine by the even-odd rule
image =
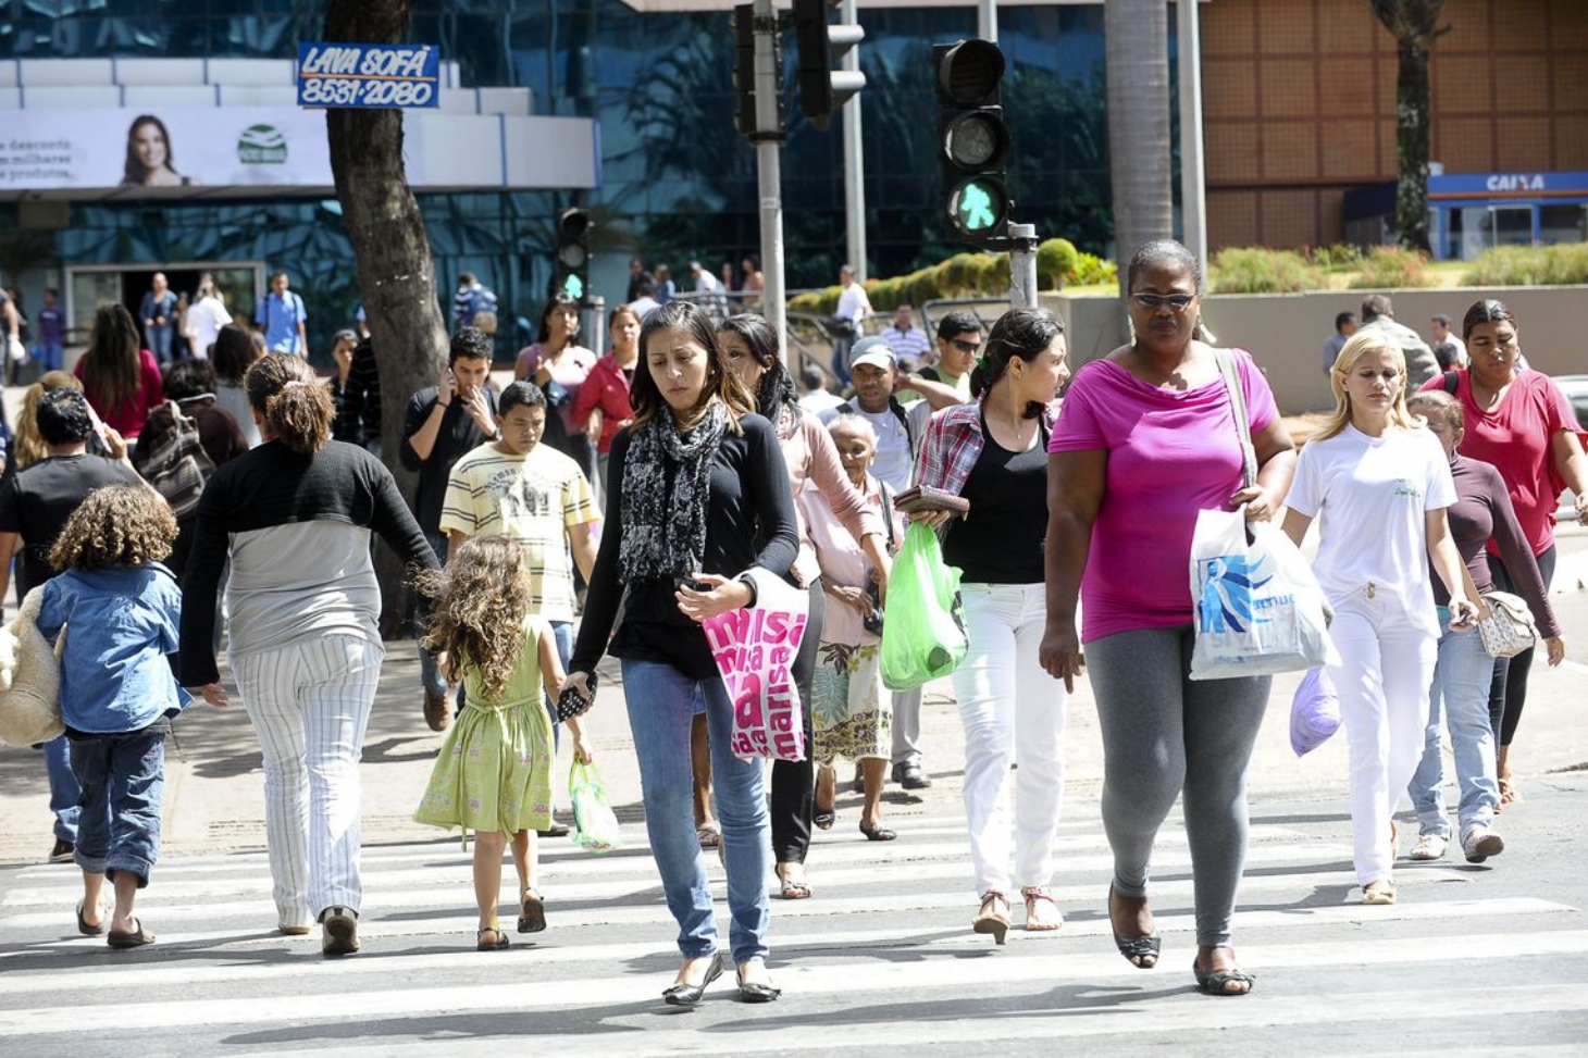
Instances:
[[[299,41],[322,35],[326,6],[0,0],[0,56],[289,59]],[[973,37],[975,17],[972,5],[861,10],[872,275],[897,275],[958,249],[937,216],[931,46]],[[718,272],[754,253],[754,153],[734,132],[730,19],[727,11],[638,13],[619,0],[414,0],[410,40],[440,44],[461,65],[462,84],[529,87],[535,113],[592,118],[602,145],[594,192],[421,195],[443,288],[459,272],[475,272],[510,318],[534,319],[549,283],[553,218],[569,205],[596,214],[594,286],[608,300],[622,295],[630,256],[669,264],[680,276],[691,259]],[[1010,60],[1004,106],[1015,135],[1015,218],[1094,253],[1112,238],[1102,22],[1100,3],[999,10],[999,43]],[[783,199],[788,280],[797,289],[837,280],[845,216],[837,124],[821,135],[800,116],[794,65],[789,33]],[[14,227],[14,213],[0,219]],[[326,335],[346,324],[357,302],[335,202],[76,202],[54,253],[70,265],[248,259],[289,267]],[[503,342],[511,340],[505,329]],[[311,345],[322,348],[324,338]]]

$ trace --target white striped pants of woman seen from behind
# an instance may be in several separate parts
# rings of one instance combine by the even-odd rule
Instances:
[[[265,755],[265,840],[278,923],[359,909],[359,759],[386,650],[354,635],[232,661]]]

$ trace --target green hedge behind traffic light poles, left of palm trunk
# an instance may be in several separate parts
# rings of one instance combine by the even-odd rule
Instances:
[[[1067,238],[1050,238],[1037,246],[1037,289],[1051,291],[1066,283],[1113,283],[1116,275],[1112,261],[1078,253]],[[840,292],[842,288],[829,286],[799,294],[789,299],[789,308],[831,316],[838,311]],[[891,311],[902,300],[921,305],[945,297],[1004,297],[1008,294],[1008,254],[954,254],[910,275],[870,280],[865,294],[880,313]]]

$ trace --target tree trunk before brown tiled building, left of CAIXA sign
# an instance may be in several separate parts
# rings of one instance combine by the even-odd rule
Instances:
[[[1445,0],[1367,0],[1374,16],[1396,40],[1396,192],[1394,226],[1401,245],[1429,253],[1428,153],[1431,140],[1428,64],[1434,41],[1450,32],[1439,25]]]

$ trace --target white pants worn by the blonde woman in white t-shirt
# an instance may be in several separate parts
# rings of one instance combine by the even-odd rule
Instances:
[[[1350,742],[1351,861],[1356,882],[1388,882],[1394,869],[1390,817],[1416,763],[1428,726],[1428,688],[1439,634],[1428,613],[1374,586],[1334,604],[1329,635],[1342,664],[1329,667]]]

